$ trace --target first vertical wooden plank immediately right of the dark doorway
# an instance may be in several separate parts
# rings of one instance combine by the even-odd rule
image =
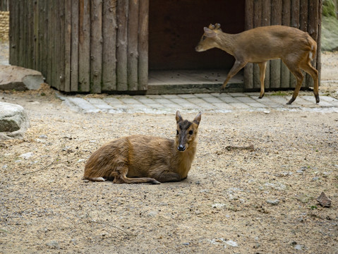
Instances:
[[[246,0],[245,3],[245,29],[253,28],[253,1]],[[244,89],[250,90],[253,88],[253,63],[246,64],[244,67]]]

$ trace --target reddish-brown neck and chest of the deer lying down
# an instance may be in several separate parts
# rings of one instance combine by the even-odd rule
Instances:
[[[197,140],[193,140],[184,152],[177,150],[177,145],[178,144],[174,143],[174,156],[171,165],[173,170],[181,176],[181,179],[185,179],[188,176],[188,171],[191,169],[191,164],[195,158]]]

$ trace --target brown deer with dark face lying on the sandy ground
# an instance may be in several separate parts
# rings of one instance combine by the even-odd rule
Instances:
[[[176,138],[131,135],[94,152],[85,164],[83,179],[113,183],[164,183],[186,179],[197,147],[201,112],[193,121],[176,111]]]

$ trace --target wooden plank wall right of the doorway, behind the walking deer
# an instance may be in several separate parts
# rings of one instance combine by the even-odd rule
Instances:
[[[289,25],[306,31],[318,43],[313,66],[320,73],[320,25],[322,0],[246,0],[246,30],[265,25]],[[265,88],[295,87],[296,78],[281,60],[267,63]],[[248,63],[244,68],[246,90],[260,88],[260,71],[257,64]],[[313,86],[313,79],[306,74],[302,87]]]

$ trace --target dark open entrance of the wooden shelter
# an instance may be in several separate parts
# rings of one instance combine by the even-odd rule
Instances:
[[[223,83],[234,57],[220,49],[195,52],[203,27],[210,23],[220,23],[224,32],[243,32],[245,1],[150,0],[148,89],[161,84],[219,87]],[[243,83],[241,76],[234,81]]]

